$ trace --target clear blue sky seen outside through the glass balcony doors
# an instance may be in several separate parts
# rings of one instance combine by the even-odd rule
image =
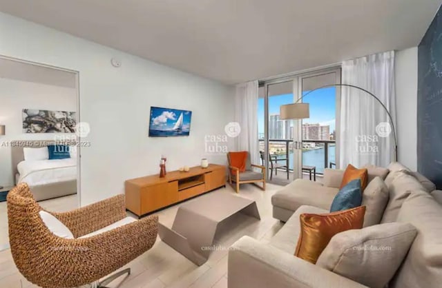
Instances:
[[[308,91],[307,91],[308,92]],[[306,94],[307,92],[304,92]],[[310,104],[310,118],[302,123],[320,123],[330,125],[330,133],[335,130],[336,88],[323,88],[305,96],[302,102]],[[279,114],[280,105],[294,103],[293,94],[281,94],[269,97],[269,115]],[[258,133],[264,134],[264,99],[258,99]]]

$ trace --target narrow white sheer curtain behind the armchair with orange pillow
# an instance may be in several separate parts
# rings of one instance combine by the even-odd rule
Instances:
[[[241,127],[236,137],[238,151],[249,151],[251,163],[259,164],[258,81],[236,85],[235,121]]]

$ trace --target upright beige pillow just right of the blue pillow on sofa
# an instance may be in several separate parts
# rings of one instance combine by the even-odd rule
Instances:
[[[362,194],[361,205],[365,206],[364,227],[379,224],[387,206],[390,194],[387,185],[380,177],[368,183]]]

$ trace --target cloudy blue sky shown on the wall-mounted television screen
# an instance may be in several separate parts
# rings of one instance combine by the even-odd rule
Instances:
[[[181,113],[183,114],[182,129],[184,131],[189,130],[191,111],[151,107],[151,129],[172,130]]]

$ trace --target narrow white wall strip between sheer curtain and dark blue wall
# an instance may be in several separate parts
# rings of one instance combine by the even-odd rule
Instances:
[[[417,47],[396,52],[398,161],[417,170]]]

